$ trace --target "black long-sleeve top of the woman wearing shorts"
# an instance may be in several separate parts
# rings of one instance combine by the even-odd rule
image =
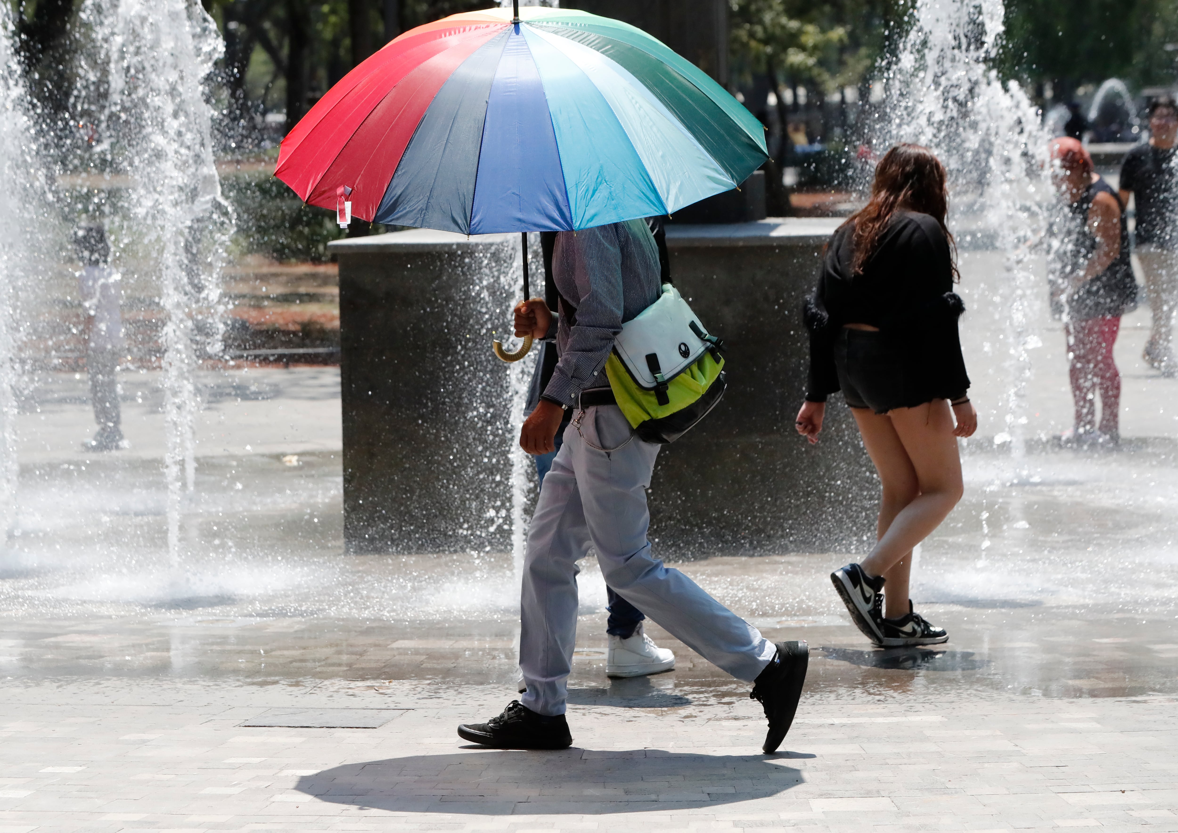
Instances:
[[[822,259],[814,297],[806,303],[810,365],[806,398],[826,402],[839,390],[834,342],[843,324],[868,324],[895,349],[904,368],[906,405],[959,399],[969,386],[961,357],[949,242],[928,214],[898,211],[875,252],[852,275],[854,224],[840,227]]]

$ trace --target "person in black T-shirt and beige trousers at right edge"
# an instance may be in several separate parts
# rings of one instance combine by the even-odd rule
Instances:
[[[1153,312],[1143,357],[1165,376],[1178,373],[1173,318],[1178,306],[1178,104],[1163,95],[1150,103],[1150,141],[1129,152],[1120,167],[1120,204],[1136,200],[1138,262]]]

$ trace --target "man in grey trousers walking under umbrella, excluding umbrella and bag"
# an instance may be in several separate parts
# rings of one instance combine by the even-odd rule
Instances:
[[[807,646],[769,642],[653,556],[646,490],[659,445],[634,435],[605,379],[622,324],[659,298],[654,239],[643,220],[561,232],[554,273],[557,318],[541,299],[516,308],[516,335],[543,338],[555,329],[560,352],[519,444],[532,455],[550,452],[564,410],[576,409],[528,534],[519,636],[527,692],[485,723],[459,726],[458,735],[508,748],[571,745],[564,710],[576,641],[576,562],[591,548],[610,587],[714,665],[754,683],[750,696],[769,721],[763,749],[774,752],[801,698]]]

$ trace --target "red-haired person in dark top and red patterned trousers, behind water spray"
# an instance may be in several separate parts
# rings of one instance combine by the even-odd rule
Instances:
[[[1060,211],[1052,224],[1052,308],[1064,319],[1077,444],[1120,441],[1120,373],[1113,344],[1120,317],[1137,303],[1129,226],[1117,192],[1092,167],[1076,139],[1051,141],[1052,181]],[[1097,424],[1097,395],[1100,422]]]

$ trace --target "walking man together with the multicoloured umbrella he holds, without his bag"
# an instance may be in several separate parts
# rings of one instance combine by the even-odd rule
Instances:
[[[550,452],[564,409],[577,409],[532,517],[522,600],[527,693],[498,718],[464,726],[464,738],[535,748],[571,742],[564,692],[576,560],[590,546],[627,601],[755,681],[753,696],[769,718],[767,752],[785,738],[806,677],[806,643],[767,642],[650,555],[646,485],[659,449],[631,436],[604,371],[622,324],[660,297],[654,240],[629,218],[734,189],[767,158],[765,126],[664,44],[578,9],[517,6],[405,32],[283,139],[274,176],[305,201],[333,209],[340,224],[358,217],[461,234],[558,232],[558,324],[543,300],[527,300],[516,320],[523,348],[496,348],[516,361],[555,326],[560,361],[524,423],[525,450]]]

